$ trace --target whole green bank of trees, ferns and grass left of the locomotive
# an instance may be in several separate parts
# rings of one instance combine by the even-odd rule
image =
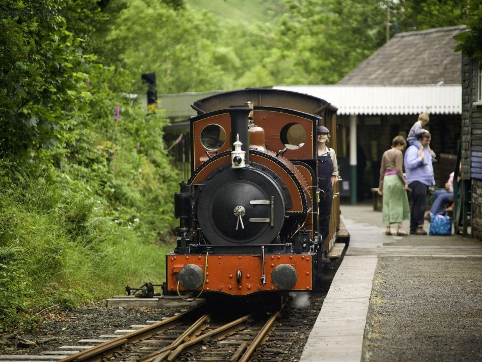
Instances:
[[[163,113],[147,117],[128,97],[132,72],[114,45],[101,44],[112,14],[94,0],[2,6],[9,11],[1,8],[0,19],[6,330],[36,323],[48,306],[71,308],[125,284],[161,282],[178,176],[164,150]],[[36,13],[26,13],[32,7]]]

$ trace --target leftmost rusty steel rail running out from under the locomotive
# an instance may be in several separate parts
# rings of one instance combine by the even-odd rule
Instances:
[[[171,325],[174,325],[175,323],[178,323],[179,320],[182,320],[196,311],[201,310],[201,308],[204,306],[205,303],[193,307],[186,312],[179,313],[171,318],[167,318],[157,323],[153,323],[147,327],[135,330],[134,332],[120,335],[119,337],[111,339],[110,341],[106,341],[92,348],[85,349],[72,356],[58,360],[57,362],[100,362],[103,357],[111,357],[112,354],[119,349],[119,346],[126,346],[128,343],[136,343],[140,340],[146,339],[152,334],[155,334],[159,329],[165,329]]]

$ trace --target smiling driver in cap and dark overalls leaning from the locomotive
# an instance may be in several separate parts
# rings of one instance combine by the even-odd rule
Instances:
[[[335,150],[327,147],[327,143],[330,141],[329,129],[319,126],[316,133],[318,140],[318,190],[320,191],[320,203],[318,204],[319,233],[321,235],[321,250],[324,258],[324,245],[330,229],[333,185],[338,181],[339,173]]]

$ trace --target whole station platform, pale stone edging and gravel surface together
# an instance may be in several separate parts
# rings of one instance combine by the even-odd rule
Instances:
[[[482,361],[482,242],[387,236],[372,204],[341,213],[350,244],[299,361]]]

